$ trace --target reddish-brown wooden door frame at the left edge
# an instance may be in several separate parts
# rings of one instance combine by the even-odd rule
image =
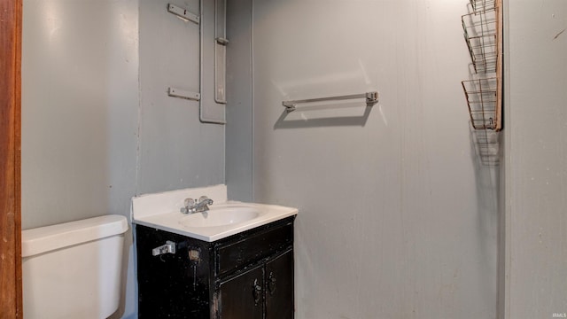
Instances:
[[[22,0],[0,1],[0,318],[22,318]]]

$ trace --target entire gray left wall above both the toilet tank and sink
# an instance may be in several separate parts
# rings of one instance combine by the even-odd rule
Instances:
[[[129,216],[132,196],[224,182],[224,128],[166,94],[198,90],[198,34],[168,2],[24,1],[23,229]],[[137,302],[127,238],[124,317]]]

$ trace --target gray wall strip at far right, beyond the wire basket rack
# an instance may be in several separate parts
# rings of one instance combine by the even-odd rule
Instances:
[[[567,313],[567,2],[506,3],[503,318]]]

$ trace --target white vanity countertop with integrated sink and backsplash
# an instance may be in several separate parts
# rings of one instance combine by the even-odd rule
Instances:
[[[204,213],[183,214],[185,198],[206,195]],[[227,200],[226,185],[167,191],[132,198],[132,222],[212,242],[298,214],[297,208]]]

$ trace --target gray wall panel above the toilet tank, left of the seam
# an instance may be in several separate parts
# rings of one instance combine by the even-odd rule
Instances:
[[[123,214],[136,178],[137,3],[29,0],[24,16],[22,224]]]

